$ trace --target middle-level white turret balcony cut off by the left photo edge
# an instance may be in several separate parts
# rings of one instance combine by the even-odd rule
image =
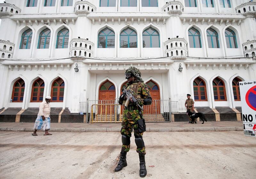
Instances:
[[[2,58],[12,58],[14,43],[9,41],[0,40],[0,55]]]

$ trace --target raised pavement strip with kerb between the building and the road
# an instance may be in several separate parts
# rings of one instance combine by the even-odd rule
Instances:
[[[218,121],[218,122],[146,122],[147,131],[228,131],[243,130],[241,121]],[[34,123],[31,122],[0,122],[0,131],[33,131]],[[118,132],[121,123],[51,123],[51,131],[65,132]]]

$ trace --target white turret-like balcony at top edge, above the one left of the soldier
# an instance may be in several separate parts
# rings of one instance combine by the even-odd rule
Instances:
[[[87,15],[90,12],[96,12],[96,6],[88,1],[76,1],[75,13],[78,15]]]

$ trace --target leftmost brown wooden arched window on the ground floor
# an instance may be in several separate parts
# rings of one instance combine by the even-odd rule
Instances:
[[[12,102],[23,102],[25,82],[21,78],[17,80],[12,89]]]

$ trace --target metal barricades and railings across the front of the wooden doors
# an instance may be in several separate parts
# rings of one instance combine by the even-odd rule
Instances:
[[[121,122],[124,106],[115,100],[88,100],[80,102],[80,112],[86,113],[86,122]],[[122,110],[121,110],[122,109]],[[178,112],[178,101],[152,100],[151,105],[143,106],[146,122],[171,121],[172,112]]]

